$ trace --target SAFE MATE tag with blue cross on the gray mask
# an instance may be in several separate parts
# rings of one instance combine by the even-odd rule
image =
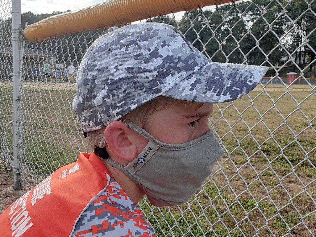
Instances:
[[[142,152],[139,155],[137,155],[137,157],[133,161],[131,161],[131,163],[125,166],[125,169],[129,173],[134,174],[137,170],[139,170],[141,167],[143,167],[143,165],[145,165],[149,161],[149,159],[154,155],[158,148],[158,146],[149,141],[146,147],[142,150]]]

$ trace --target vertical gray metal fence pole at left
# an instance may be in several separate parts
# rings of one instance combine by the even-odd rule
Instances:
[[[21,189],[20,136],[20,49],[21,49],[21,0],[12,0],[12,133],[13,133],[13,188]]]

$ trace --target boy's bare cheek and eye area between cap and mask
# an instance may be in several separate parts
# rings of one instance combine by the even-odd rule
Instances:
[[[212,110],[213,104],[198,108],[198,104],[185,106],[185,102],[178,101],[153,112],[145,130],[163,143],[186,143],[210,131],[208,118]]]

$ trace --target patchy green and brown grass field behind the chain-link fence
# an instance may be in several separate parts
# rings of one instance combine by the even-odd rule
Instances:
[[[0,82],[1,83],[1,82]],[[3,120],[12,91],[0,84]],[[23,94],[26,188],[85,149],[71,101],[74,86],[29,83]],[[307,85],[258,86],[210,117],[226,154],[190,204],[140,203],[158,236],[312,236],[316,233],[316,94]],[[0,141],[12,136],[9,125]],[[10,134],[11,133],[11,134]],[[167,174],[166,174],[167,175]],[[307,228],[309,228],[309,231]],[[272,234],[273,233],[273,234]]]

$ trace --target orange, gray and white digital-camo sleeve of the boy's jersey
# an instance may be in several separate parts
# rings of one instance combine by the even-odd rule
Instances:
[[[107,175],[108,176],[108,175]],[[110,176],[107,177],[110,179]],[[154,229],[113,179],[78,220],[72,237],[155,237]]]

